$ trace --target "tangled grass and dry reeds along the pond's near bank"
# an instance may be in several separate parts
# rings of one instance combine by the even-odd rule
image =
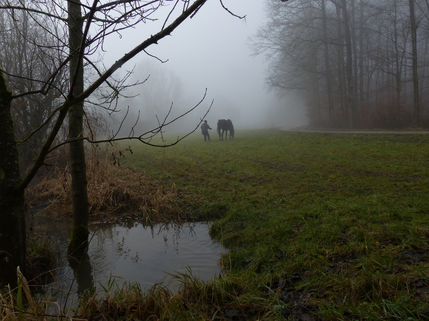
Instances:
[[[249,295],[245,284],[228,273],[202,282],[190,268],[147,291],[136,282],[120,284],[111,277],[106,286],[100,286],[91,296],[79,297],[67,306],[48,296],[34,295],[19,272],[18,279],[17,289],[7,288],[0,293],[2,321],[225,320],[234,315],[264,320],[273,310],[267,308],[267,301],[278,303],[276,297],[267,300]],[[179,282],[175,292],[171,290],[172,282]],[[280,314],[280,305],[277,310]]]

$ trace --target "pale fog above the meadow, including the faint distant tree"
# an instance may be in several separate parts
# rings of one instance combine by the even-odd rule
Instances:
[[[213,104],[205,119],[213,128],[218,119],[231,119],[234,127],[268,128],[306,124],[305,108],[292,95],[279,98],[265,86],[267,63],[264,55],[252,56],[248,38],[263,23],[263,1],[224,1],[224,5],[237,15],[246,15],[245,21],[225,11],[218,1],[208,1],[192,18],[179,26],[170,37],[147,52],[160,60],[141,53],[125,64],[116,76],[124,76],[134,69],[130,83],[145,83],[125,93],[134,98],[121,98],[118,105],[121,120],[129,106],[127,119],[120,134],[129,134],[140,112],[135,133],[157,125],[172,104],[167,119],[185,113],[207,94],[202,104],[183,119],[166,128],[167,131],[188,131],[198,125],[201,117]],[[142,39],[160,30],[163,21],[140,24],[127,29],[103,45],[106,51],[104,65],[110,65],[132,49]],[[135,39],[135,41],[130,41]],[[118,128],[118,122],[111,131]]]

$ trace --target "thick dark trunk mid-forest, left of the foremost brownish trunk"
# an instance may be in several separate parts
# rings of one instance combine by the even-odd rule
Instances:
[[[349,128],[354,128],[355,124],[355,109],[354,109],[354,86],[353,86],[353,56],[352,56],[352,46],[351,46],[351,35],[350,35],[350,25],[348,20],[347,12],[347,1],[341,0],[341,9],[343,12],[343,21],[344,21],[344,37],[346,43],[346,77],[347,77],[347,105],[350,107],[351,117],[349,122]]]

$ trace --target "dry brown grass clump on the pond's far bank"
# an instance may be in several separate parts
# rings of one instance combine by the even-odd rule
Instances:
[[[136,168],[115,166],[106,154],[87,158],[88,201],[91,220],[135,217],[147,222],[195,219],[202,204],[199,195],[162,179],[151,178]],[[29,190],[36,199],[48,199],[46,214],[71,219],[72,193],[69,166],[55,168]]]

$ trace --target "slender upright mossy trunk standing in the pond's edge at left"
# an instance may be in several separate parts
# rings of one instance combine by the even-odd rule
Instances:
[[[68,1],[68,25],[70,54],[70,86],[74,96],[84,91],[83,60],[79,59],[82,44],[83,19],[80,1]],[[76,75],[77,71],[77,75]],[[75,77],[76,75],[76,77]],[[83,137],[84,103],[75,104],[69,109],[69,138]],[[88,190],[86,180],[85,149],[83,140],[69,143],[70,169],[72,176],[73,224],[67,254],[76,258],[86,253],[88,247]]]

